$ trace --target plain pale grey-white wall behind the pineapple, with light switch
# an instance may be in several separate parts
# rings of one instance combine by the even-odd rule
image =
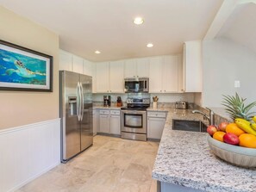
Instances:
[[[248,102],[256,100],[256,53],[231,40],[203,41],[203,106],[223,107],[222,95],[237,92]],[[234,81],[240,88],[234,88]]]

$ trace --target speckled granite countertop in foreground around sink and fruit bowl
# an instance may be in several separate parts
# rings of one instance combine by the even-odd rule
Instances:
[[[172,130],[172,118],[197,117],[190,109],[182,112],[170,108],[153,168],[154,179],[204,191],[256,191],[256,169],[216,158],[209,149],[207,133]]]

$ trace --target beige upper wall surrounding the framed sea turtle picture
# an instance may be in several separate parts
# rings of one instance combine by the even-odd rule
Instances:
[[[0,39],[53,56],[53,92],[0,90],[0,129],[59,117],[59,36],[0,6]]]

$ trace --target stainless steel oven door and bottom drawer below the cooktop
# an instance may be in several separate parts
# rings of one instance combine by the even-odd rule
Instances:
[[[146,110],[122,110],[122,138],[147,140],[146,120]]]

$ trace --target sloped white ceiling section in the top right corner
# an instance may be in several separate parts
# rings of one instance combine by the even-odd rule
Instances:
[[[256,53],[256,4],[238,4],[217,37],[225,37]]]

